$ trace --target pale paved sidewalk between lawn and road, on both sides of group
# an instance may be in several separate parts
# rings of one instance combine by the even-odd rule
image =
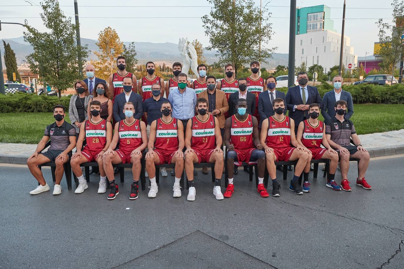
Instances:
[[[370,157],[404,154],[404,129],[390,132],[359,135]],[[26,164],[36,145],[0,143],[0,163]]]

